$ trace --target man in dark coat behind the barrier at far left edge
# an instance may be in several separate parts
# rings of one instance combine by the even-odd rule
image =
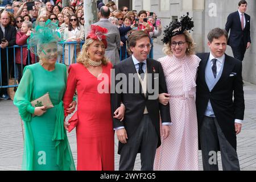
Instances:
[[[1,14],[0,22],[0,40],[1,40],[1,76],[2,76],[2,85],[8,85],[8,78],[10,73],[13,74],[13,48],[7,48],[14,46],[16,43],[16,28],[10,26],[10,15],[7,11],[3,11]],[[8,63],[7,63],[7,51],[8,49]],[[8,75],[9,73],[9,75]],[[0,89],[0,99],[9,100],[10,97],[7,94],[7,89]]]

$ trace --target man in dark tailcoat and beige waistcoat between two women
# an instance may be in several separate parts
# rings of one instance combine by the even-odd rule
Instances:
[[[147,58],[151,48],[147,33],[133,32],[129,36],[129,46],[133,56],[114,66],[115,84],[112,84],[115,86],[112,110],[116,110],[121,102],[126,108],[122,122],[113,119],[119,140],[118,154],[121,155],[119,170],[133,170],[135,158],[140,152],[141,170],[152,171],[156,148],[161,144],[159,111],[163,138],[170,134],[170,106],[158,101],[159,93],[167,93],[167,86],[161,64]]]

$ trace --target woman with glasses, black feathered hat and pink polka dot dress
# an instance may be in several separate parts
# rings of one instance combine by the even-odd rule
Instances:
[[[159,101],[163,105],[170,102],[172,125],[170,136],[156,151],[156,171],[199,170],[195,94],[200,58],[195,55],[195,43],[188,32],[193,26],[187,14],[181,17],[181,22],[171,22],[164,30],[164,53],[167,56],[159,61],[168,93],[160,94]]]

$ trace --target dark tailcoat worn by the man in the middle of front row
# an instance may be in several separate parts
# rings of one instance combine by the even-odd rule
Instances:
[[[126,60],[123,60],[118,65],[114,66],[115,69],[115,75],[118,75],[118,73],[123,73],[126,75],[126,77],[129,77],[129,73],[137,75],[137,71],[134,66],[134,62],[132,57],[129,57]],[[162,65],[155,60],[147,59],[147,73],[148,73],[148,82],[149,80],[152,80],[152,88],[159,88],[159,94],[160,93],[168,93],[167,86],[166,86],[166,80],[164,78],[164,72]],[[156,73],[159,75],[157,76]],[[138,77],[138,75],[137,75]],[[149,78],[151,77],[151,78]],[[154,81],[155,79],[158,79],[159,85],[155,85]],[[154,93],[146,93],[146,97],[144,96],[144,93],[142,92],[142,86],[139,83],[139,93],[135,93],[135,81],[134,84],[129,84],[129,80],[121,80],[121,81],[115,81],[115,85],[122,82],[123,84],[128,85],[127,90],[131,88],[133,90],[133,93],[125,93],[124,87],[122,88],[122,93],[114,92],[111,97],[112,101],[112,113],[120,106],[121,101],[125,105],[125,119],[120,122],[118,119],[113,119],[113,127],[121,127],[124,126],[128,135],[128,138],[133,137],[134,131],[138,128],[139,123],[142,120],[143,112],[145,106],[147,106],[148,114],[150,116],[150,119],[155,127],[156,133],[158,134],[158,147],[161,144],[160,141],[160,115],[162,122],[171,122],[170,117],[170,105],[162,105],[159,103],[158,98],[155,100],[148,99],[149,96],[152,96]],[[160,111],[160,115],[159,115]],[[118,154],[121,151],[123,147],[123,144],[119,142],[118,145]]]

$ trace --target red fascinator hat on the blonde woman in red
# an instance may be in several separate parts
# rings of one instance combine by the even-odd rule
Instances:
[[[108,29],[92,24],[90,26],[90,32],[88,32],[86,39],[100,40],[107,48],[108,43],[106,42],[106,33],[108,33]]]

